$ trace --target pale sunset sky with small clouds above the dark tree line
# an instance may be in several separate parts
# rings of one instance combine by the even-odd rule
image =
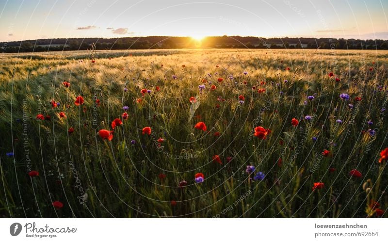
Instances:
[[[0,41],[127,36],[388,39],[383,0],[0,0]]]

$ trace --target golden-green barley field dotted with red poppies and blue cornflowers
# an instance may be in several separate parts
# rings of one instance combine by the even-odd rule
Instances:
[[[388,51],[0,54],[4,218],[388,215]]]

